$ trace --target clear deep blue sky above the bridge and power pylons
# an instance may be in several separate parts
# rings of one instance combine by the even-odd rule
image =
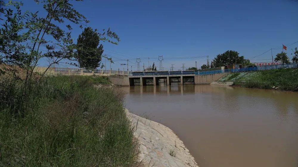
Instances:
[[[43,13],[33,0],[23,2],[24,9]],[[238,51],[252,62],[270,62],[270,48],[277,48],[272,50],[275,55],[281,52],[282,43],[298,41],[297,0],[85,0],[75,2],[74,7],[90,21],[87,26],[111,27],[121,38],[119,45],[103,43],[104,53],[116,61],[113,69],[121,69],[120,63],[126,63],[122,59],[128,58],[129,65],[136,70],[136,57],[142,57],[141,65],[145,63],[145,67],[151,57],[150,64],[155,62],[159,67],[159,62],[153,59],[158,55],[164,56],[165,70],[171,64],[176,69],[181,69],[182,63],[193,67],[195,61],[200,67],[207,57],[169,58],[209,55],[211,62],[226,50]],[[81,32],[76,27],[72,37],[76,39]],[[298,42],[288,46],[289,57],[291,48],[297,46]],[[268,52],[262,54],[265,51]]]

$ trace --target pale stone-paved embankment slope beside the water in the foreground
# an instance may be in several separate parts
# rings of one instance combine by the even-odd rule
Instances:
[[[134,135],[140,144],[139,161],[144,166],[198,167],[189,150],[170,128],[125,110],[136,129]]]

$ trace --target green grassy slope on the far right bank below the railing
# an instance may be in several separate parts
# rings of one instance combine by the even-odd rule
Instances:
[[[273,86],[280,86],[279,90],[296,90],[298,88],[298,69],[232,73],[222,77],[220,81],[242,81],[235,82],[235,85],[248,88],[271,89]]]

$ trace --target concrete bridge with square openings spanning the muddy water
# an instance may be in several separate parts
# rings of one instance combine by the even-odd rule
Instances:
[[[171,85],[173,82],[178,82],[183,85],[185,82],[192,84],[210,84],[213,81],[217,81],[221,77],[229,74],[217,73],[217,74],[206,74],[206,75],[195,75],[195,74],[183,74],[183,75],[145,75],[145,76],[128,76],[128,77],[113,77],[110,76],[109,80],[114,85],[120,86],[134,86],[140,84],[140,86],[148,85],[148,81],[153,81],[153,85],[159,85],[159,80],[163,80],[166,85]]]

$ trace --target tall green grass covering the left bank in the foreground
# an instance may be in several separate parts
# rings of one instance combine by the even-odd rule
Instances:
[[[137,166],[122,94],[105,77],[1,78],[0,166]],[[24,91],[28,90],[28,91]]]

